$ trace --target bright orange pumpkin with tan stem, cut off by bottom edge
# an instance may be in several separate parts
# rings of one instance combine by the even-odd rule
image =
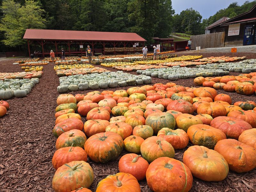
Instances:
[[[141,190],[138,180],[132,174],[119,172],[115,175],[108,175],[105,179],[98,183],[96,192],[103,191],[140,192]]]

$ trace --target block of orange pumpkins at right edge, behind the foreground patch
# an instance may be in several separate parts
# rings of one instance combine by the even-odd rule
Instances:
[[[256,72],[241,74],[239,76],[222,77],[197,77],[194,79],[196,85],[223,89],[227,92],[237,92],[242,95],[252,95],[256,90]]]

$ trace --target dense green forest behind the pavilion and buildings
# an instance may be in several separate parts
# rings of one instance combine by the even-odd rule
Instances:
[[[254,4],[234,2],[202,20],[193,8],[175,14],[171,0],[0,0],[0,52],[23,49],[27,28],[135,32],[148,42],[172,32],[204,34],[213,22],[235,17]]]

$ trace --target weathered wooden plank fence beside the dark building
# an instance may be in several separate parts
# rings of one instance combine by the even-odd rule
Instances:
[[[225,32],[209,33],[190,37],[192,40],[191,49],[201,46],[201,49],[224,47]]]

